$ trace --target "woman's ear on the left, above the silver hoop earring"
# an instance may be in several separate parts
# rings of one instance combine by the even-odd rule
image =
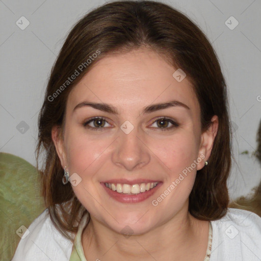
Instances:
[[[60,126],[54,126],[51,129],[51,139],[53,140],[56,152],[59,156],[63,168],[67,166],[66,153],[64,149],[64,140],[61,135]]]

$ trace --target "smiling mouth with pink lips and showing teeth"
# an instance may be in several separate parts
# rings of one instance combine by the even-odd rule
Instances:
[[[163,182],[153,180],[153,182],[144,181],[134,184],[133,182],[118,183],[111,181],[100,182],[100,184],[110,198],[122,203],[138,203],[152,196],[162,186]]]

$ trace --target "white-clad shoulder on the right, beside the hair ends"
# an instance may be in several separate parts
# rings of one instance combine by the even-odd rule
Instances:
[[[255,213],[228,208],[213,227],[212,260],[259,260],[261,257],[261,218]],[[257,258],[258,257],[258,258]]]

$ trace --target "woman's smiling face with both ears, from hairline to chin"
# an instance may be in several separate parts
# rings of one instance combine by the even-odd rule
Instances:
[[[175,71],[148,49],[107,56],[70,92],[63,139],[53,129],[76,197],[114,231],[129,226],[140,234],[188,214],[217,125],[201,133],[193,86],[188,77],[176,81]]]

